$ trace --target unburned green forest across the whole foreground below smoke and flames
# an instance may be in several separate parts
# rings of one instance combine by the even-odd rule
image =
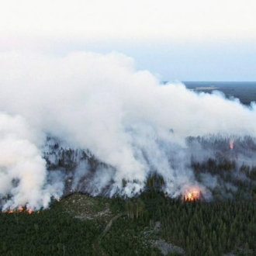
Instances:
[[[86,196],[85,207],[97,213],[108,206],[109,215],[83,219],[78,198],[70,195],[39,213],[0,213],[0,254],[163,255],[155,245],[160,239],[183,249],[168,255],[256,253],[255,201],[188,202],[150,189],[129,200]]]

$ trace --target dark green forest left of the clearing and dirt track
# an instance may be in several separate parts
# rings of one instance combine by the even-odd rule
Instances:
[[[104,223],[81,221],[59,203],[40,213],[0,213],[0,255],[95,255],[92,242]]]

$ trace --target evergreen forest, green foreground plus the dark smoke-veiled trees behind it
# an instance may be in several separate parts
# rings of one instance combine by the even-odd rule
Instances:
[[[188,137],[186,144],[188,168],[206,188],[192,201],[171,199],[157,171],[131,199],[104,196],[111,184],[92,197],[90,177],[115,168],[88,150],[52,144],[44,157],[50,172],[64,171],[64,197],[32,214],[0,213],[0,255],[256,255],[254,139]],[[81,162],[88,172],[75,180]]]

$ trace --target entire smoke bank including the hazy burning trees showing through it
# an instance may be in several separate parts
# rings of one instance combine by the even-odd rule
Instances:
[[[123,54],[0,54],[2,210],[63,193],[232,198],[256,181],[256,109],[139,71]],[[256,193],[256,192],[255,192]]]

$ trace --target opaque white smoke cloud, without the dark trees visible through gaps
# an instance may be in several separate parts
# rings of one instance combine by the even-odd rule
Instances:
[[[99,192],[111,182],[109,195],[131,196],[156,171],[169,195],[177,196],[190,185],[204,187],[189,168],[195,152],[187,150],[186,137],[256,135],[254,105],[247,108],[220,94],[195,94],[181,83],[161,85],[123,54],[1,53],[0,69],[3,209],[47,207],[52,196],[61,195],[61,175],[50,176],[43,160],[47,136],[88,149],[112,167],[97,170],[92,178]],[[198,157],[206,154],[196,147]],[[87,171],[83,166],[74,171],[76,182],[75,175]]]

